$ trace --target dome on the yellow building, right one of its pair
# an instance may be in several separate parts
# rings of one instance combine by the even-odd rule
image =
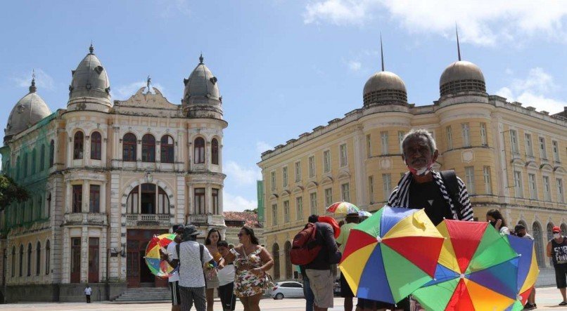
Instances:
[[[466,60],[453,62],[441,74],[439,91],[441,97],[463,91],[486,93],[483,72],[472,62]]]

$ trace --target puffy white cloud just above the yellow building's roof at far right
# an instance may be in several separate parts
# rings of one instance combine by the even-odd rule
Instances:
[[[538,111],[551,114],[563,111],[567,102],[549,97],[549,92],[558,88],[553,77],[542,68],[532,68],[525,79],[514,79],[509,86],[500,88],[496,94],[510,102],[521,102],[524,107],[532,106]]]

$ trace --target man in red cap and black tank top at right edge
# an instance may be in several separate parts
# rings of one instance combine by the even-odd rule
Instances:
[[[559,305],[567,305],[566,287],[567,287],[567,238],[561,234],[560,227],[553,227],[553,239],[547,243],[547,257],[553,260],[555,269],[555,282],[557,288],[561,291],[563,301]]]

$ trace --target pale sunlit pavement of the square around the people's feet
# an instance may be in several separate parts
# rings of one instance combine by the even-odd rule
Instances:
[[[567,307],[557,305],[561,302],[561,293],[554,287],[544,287],[537,289],[536,299],[537,310],[567,310]],[[215,302],[215,310],[220,302]],[[303,299],[284,299],[273,300],[271,298],[263,299],[260,302],[262,310],[286,310],[286,311],[302,311],[305,310],[305,300]],[[8,305],[0,305],[0,310],[13,311],[59,311],[59,310],[76,310],[76,311],[130,311],[130,310],[155,310],[169,311],[171,305],[169,303],[14,303]],[[194,310],[194,309],[193,309]],[[220,308],[219,308],[220,310]],[[243,310],[242,305],[237,303],[236,310]],[[335,307],[329,309],[333,311],[342,311],[343,299],[335,298]]]

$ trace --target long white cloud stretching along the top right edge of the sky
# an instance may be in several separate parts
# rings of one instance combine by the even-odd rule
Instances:
[[[490,46],[527,36],[566,42],[567,6],[562,1],[530,0],[317,0],[305,6],[304,22],[362,25],[386,10],[390,20],[412,33],[434,33]]]

